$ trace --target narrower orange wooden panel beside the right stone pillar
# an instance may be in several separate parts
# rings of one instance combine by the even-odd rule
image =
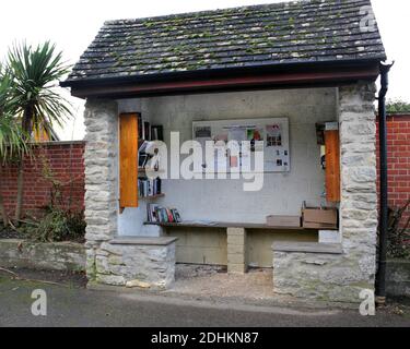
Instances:
[[[326,200],[340,202],[340,145],[339,131],[325,131]]]

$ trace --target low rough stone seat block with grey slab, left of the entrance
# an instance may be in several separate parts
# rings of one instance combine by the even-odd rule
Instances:
[[[95,260],[98,284],[166,289],[175,280],[177,238],[117,237],[101,244]]]

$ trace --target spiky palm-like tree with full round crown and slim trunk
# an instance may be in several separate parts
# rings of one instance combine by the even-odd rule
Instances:
[[[33,131],[48,132],[54,124],[62,124],[71,116],[69,103],[56,91],[57,83],[68,72],[62,52],[46,41],[37,47],[25,43],[15,45],[8,56],[8,68],[13,84],[13,100],[21,127],[27,137]],[[21,218],[23,203],[23,166],[20,161],[17,179],[16,221]]]

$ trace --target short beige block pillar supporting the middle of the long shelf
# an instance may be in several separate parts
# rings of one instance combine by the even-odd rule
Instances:
[[[227,228],[227,273],[244,274],[247,272],[246,230]]]

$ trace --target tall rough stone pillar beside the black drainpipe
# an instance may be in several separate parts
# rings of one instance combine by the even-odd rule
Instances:
[[[374,290],[377,241],[374,83],[339,88],[342,245],[360,288]],[[356,294],[352,294],[356,296]],[[356,296],[358,297],[358,296]]]

